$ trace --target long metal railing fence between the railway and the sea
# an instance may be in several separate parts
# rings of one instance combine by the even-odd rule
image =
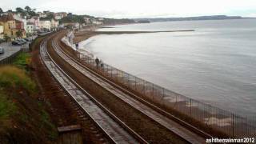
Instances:
[[[62,44],[66,45],[64,42]],[[134,90],[134,92],[149,99],[151,102],[164,106],[167,110],[176,110],[185,114],[188,118],[194,118],[194,120],[201,122],[205,126],[210,126],[214,130],[221,131],[230,137],[245,138],[256,136],[256,118],[244,118],[227,110],[187,98],[182,94],[177,94],[154,83],[147,82],[106,63],[97,65],[95,59],[90,55],[78,53],[77,57],[81,62],[104,74],[112,81]]]

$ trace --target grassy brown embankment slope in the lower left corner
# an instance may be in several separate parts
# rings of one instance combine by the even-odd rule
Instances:
[[[50,143],[57,138],[37,92],[25,69],[0,67],[0,143]]]

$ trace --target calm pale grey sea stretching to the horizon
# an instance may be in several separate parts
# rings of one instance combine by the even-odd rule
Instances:
[[[154,22],[100,30],[195,30],[94,36],[80,46],[159,86],[242,115],[256,114],[256,19]]]

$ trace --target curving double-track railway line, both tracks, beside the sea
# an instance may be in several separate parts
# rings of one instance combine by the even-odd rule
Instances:
[[[182,122],[177,122],[177,119],[173,120],[167,117],[166,114],[162,114],[162,112],[146,105],[145,102],[134,98],[136,95],[122,89],[120,86],[115,86],[113,82],[110,82],[108,79],[90,70],[90,68],[82,65],[75,58],[72,58],[70,54],[66,53],[65,49],[70,49],[70,47],[64,47],[59,44],[62,35],[62,32],[58,32],[42,42],[40,46],[42,60],[56,81],[66,90],[67,94],[74,98],[74,101],[84,110],[85,114],[89,115],[102,132],[106,134],[110,142],[150,143],[155,141],[148,142],[147,138],[145,138],[145,140],[142,133],[146,131],[140,130],[137,132],[133,130],[128,122],[124,122],[122,118],[118,118],[110,108],[99,102],[97,98],[94,98],[94,95],[89,94],[85,90],[85,86],[81,85],[81,82],[78,82],[78,79],[72,78],[72,74],[62,69],[62,65],[64,64],[58,63],[60,61],[54,61],[52,54],[58,55],[58,57],[62,59],[62,62],[72,66],[73,70],[76,70],[81,76],[90,79],[91,82],[94,82],[99,87],[106,90],[109,94],[113,95],[114,98],[118,99],[118,102],[122,102],[139,115],[142,115],[143,118],[147,118],[149,122],[152,122],[152,125],[161,127],[159,130],[174,135],[174,138],[179,139],[178,142],[205,143],[206,138],[211,137],[210,134],[206,134],[201,130],[197,131],[194,126],[189,127],[189,124],[186,124],[186,126],[181,125]]]

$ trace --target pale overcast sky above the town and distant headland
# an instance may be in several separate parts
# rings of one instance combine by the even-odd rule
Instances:
[[[0,0],[3,10],[30,6],[108,18],[163,18],[214,14],[256,17],[256,0]]]

